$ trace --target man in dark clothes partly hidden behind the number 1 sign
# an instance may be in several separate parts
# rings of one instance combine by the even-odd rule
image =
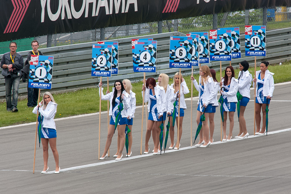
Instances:
[[[32,51],[29,51],[27,55],[27,60],[24,63],[24,68],[21,70],[21,78],[22,82],[25,82],[25,79],[29,77],[29,70],[30,70],[30,58],[31,55],[43,55],[42,52],[38,50],[38,41],[33,40],[31,42]],[[29,82],[27,81],[27,106],[28,107],[35,107],[37,105],[38,100],[38,88],[29,88]]]

